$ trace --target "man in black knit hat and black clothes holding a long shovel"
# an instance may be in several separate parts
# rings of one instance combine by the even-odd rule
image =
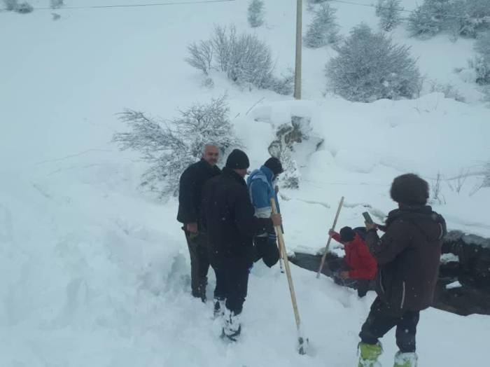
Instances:
[[[216,272],[215,316],[224,314],[223,336],[236,340],[248,286],[248,272],[255,258],[253,236],[281,225],[280,214],[257,218],[244,176],[248,157],[235,149],[223,172],[204,186],[202,223],[207,230],[211,265]],[[223,310],[223,306],[225,310]]]

